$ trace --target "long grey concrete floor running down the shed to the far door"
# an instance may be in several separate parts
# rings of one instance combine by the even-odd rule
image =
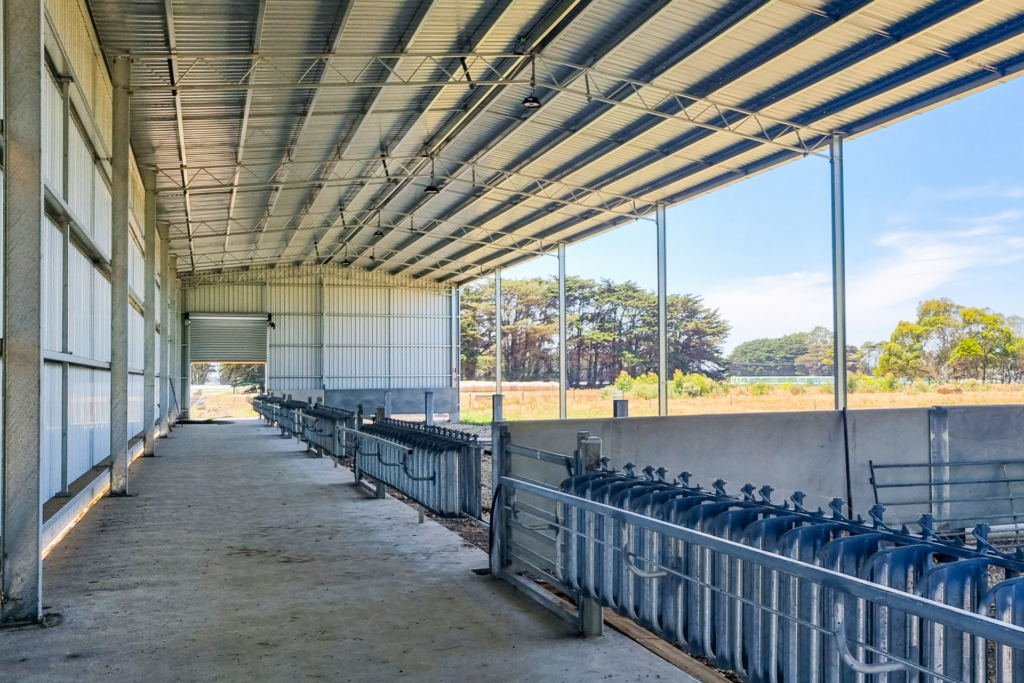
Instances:
[[[255,421],[187,425],[45,563],[52,629],[0,634],[2,681],[648,681],[471,569],[481,551]]]

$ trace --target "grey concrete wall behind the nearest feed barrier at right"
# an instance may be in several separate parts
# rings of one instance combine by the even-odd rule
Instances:
[[[836,411],[512,422],[509,430],[514,443],[563,454],[575,449],[578,432],[589,431],[601,437],[603,453],[616,468],[628,462],[638,468],[665,467],[670,479],[685,470],[693,474],[693,483],[706,487],[725,479],[730,493],[738,493],[745,483],[759,488],[768,484],[775,488],[776,502],[803,490],[808,507],[826,508],[839,497],[866,516],[876,502],[871,462],[927,466],[935,459],[932,423],[936,410],[944,409],[850,411],[845,430],[843,414]],[[948,414],[950,462],[1016,460],[1021,463],[1016,471],[1024,478],[1024,407],[961,407],[949,409]],[[971,477],[989,478],[982,476],[985,471],[977,468]],[[884,476],[890,483],[927,482],[930,470],[886,469]],[[1015,485],[1020,488],[1014,494],[1024,499],[1024,484]],[[998,487],[1008,488],[1007,484]],[[972,488],[976,496],[992,494],[992,486],[965,488]],[[883,500],[927,500],[930,493],[927,485],[894,487],[884,492],[888,499]],[[1010,508],[1009,502],[1000,505]],[[1024,505],[1018,506],[1024,512]],[[955,507],[946,512],[955,517],[985,510],[976,505],[966,512]],[[887,520],[912,523],[925,512],[938,513],[927,503],[896,506],[890,507]]]

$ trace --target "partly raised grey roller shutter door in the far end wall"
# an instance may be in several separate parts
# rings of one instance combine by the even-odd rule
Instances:
[[[188,358],[193,362],[266,362],[266,317],[190,313]]]

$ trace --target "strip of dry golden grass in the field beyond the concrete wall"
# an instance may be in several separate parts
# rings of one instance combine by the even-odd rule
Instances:
[[[851,409],[923,408],[929,405],[985,405],[1024,403],[1024,387],[992,386],[988,391],[961,394],[929,393],[852,393]],[[831,393],[821,393],[809,387],[805,394],[791,394],[781,389],[766,396],[752,396],[745,390],[733,389],[728,396],[673,398],[670,415],[707,415],[711,413],[771,413],[781,411],[828,411],[833,409]],[[557,391],[511,391],[505,393],[504,412],[508,420],[554,420],[558,417]],[[630,415],[657,415],[657,399],[630,400]],[[568,417],[611,417],[611,400],[602,399],[599,389],[570,389]],[[489,394],[462,394],[464,422],[490,421]]]

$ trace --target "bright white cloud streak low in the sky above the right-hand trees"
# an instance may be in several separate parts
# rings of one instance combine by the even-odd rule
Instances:
[[[886,338],[918,303],[972,270],[1024,260],[1024,237],[997,224],[942,232],[893,231],[876,243],[878,256],[848,268],[850,341]],[[728,348],[759,337],[831,327],[831,273],[790,272],[733,281],[709,291],[705,301],[733,326]]]

